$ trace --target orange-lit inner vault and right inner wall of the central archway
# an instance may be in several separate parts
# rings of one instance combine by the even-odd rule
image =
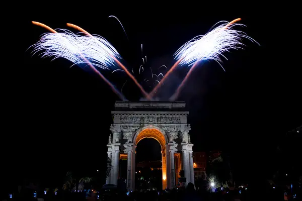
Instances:
[[[157,140],[161,145],[161,153],[162,153],[162,180],[163,180],[163,189],[167,188],[167,156],[166,156],[166,144],[167,144],[167,137],[163,132],[161,132],[159,129],[156,128],[143,128],[139,132],[136,133],[134,136],[133,142],[134,142],[134,151],[136,149],[136,145],[145,138],[153,138]],[[135,158],[132,160],[135,161]],[[133,171],[133,169],[132,169]],[[135,168],[134,168],[135,172]],[[133,173],[132,173],[133,175]],[[133,178],[133,177],[132,177]],[[134,184],[132,184],[134,185]],[[133,186],[134,187],[134,186]]]

